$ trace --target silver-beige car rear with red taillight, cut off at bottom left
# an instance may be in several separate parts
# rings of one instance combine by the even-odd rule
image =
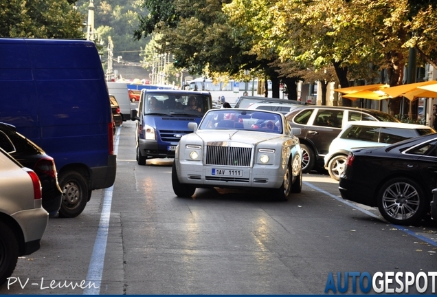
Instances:
[[[0,285],[14,272],[19,256],[41,247],[48,213],[41,206],[41,184],[0,148]]]

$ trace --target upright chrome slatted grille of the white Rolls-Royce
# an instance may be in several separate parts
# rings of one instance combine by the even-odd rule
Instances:
[[[249,167],[252,148],[206,146],[206,164]]]

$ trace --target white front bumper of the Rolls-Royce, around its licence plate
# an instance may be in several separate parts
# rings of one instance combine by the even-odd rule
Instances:
[[[181,184],[192,184],[197,188],[280,188],[284,181],[285,166],[280,164],[260,165],[253,167],[203,165],[175,159],[177,175]],[[224,169],[227,173],[238,175],[213,174],[213,169]]]

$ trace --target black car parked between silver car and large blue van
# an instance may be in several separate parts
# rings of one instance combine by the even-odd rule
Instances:
[[[54,217],[60,208],[63,192],[58,184],[54,159],[25,136],[15,126],[0,122],[0,147],[21,165],[34,170],[43,189],[43,208]]]

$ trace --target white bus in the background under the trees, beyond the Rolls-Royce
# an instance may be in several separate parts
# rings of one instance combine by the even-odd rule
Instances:
[[[271,81],[269,83],[269,96],[271,96]],[[209,91],[214,102],[221,102],[221,97],[225,97],[225,101],[230,104],[236,103],[240,96],[247,92],[247,96],[260,96],[257,94],[258,79],[249,82],[236,82],[235,80],[228,80],[227,83],[219,82],[213,83],[210,78],[194,78],[188,83],[188,90],[194,91]]]

